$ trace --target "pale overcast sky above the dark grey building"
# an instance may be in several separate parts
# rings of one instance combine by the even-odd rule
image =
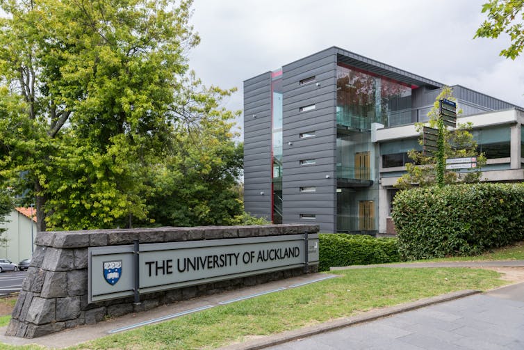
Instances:
[[[190,67],[206,85],[236,86],[227,107],[242,109],[245,79],[337,46],[524,106],[524,58],[499,56],[507,38],[473,40],[484,2],[195,0]]]

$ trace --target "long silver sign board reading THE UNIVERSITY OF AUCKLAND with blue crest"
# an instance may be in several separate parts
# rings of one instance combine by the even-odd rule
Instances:
[[[318,263],[318,234],[88,249],[89,303]],[[135,261],[138,261],[136,266]],[[137,273],[138,272],[138,273]]]

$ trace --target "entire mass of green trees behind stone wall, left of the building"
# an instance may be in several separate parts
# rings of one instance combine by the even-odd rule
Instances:
[[[242,213],[235,89],[188,72],[191,3],[0,1],[0,181],[35,198],[39,230]]]

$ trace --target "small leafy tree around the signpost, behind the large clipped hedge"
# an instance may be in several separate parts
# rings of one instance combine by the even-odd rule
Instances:
[[[442,92],[436,97],[433,108],[427,116],[429,117],[429,127],[436,128],[437,120],[439,118],[439,100],[447,99],[455,101],[452,96],[452,89],[449,87],[443,88]],[[461,111],[457,111],[460,114]],[[422,131],[424,122],[416,123],[416,129],[420,133],[418,142],[423,143]],[[445,184],[454,184],[457,182],[478,182],[482,173],[480,168],[486,164],[486,157],[484,154],[478,154],[477,142],[473,139],[470,133],[473,129],[471,123],[460,124],[457,123],[457,128],[453,131],[444,128],[444,154],[445,158],[462,158],[462,157],[477,157],[477,171],[468,173],[457,173],[453,170],[445,170],[444,182]],[[424,154],[416,150],[408,152],[409,158],[413,163],[406,164],[407,173],[402,175],[395,184],[400,189],[407,189],[413,184],[419,186],[431,186],[436,184],[436,157],[434,154]]]

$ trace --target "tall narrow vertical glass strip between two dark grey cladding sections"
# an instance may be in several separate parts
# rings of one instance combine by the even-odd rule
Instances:
[[[271,150],[273,223],[282,223],[282,71],[271,73]]]

